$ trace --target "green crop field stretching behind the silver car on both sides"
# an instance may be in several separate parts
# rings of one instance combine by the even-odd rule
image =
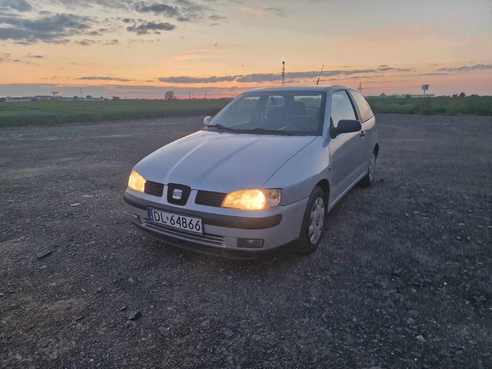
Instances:
[[[227,100],[0,102],[0,127],[214,115]],[[492,116],[491,97],[368,99],[375,114]]]

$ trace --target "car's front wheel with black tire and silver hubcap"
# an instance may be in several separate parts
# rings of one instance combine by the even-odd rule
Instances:
[[[320,208],[320,199],[322,202],[322,210]],[[316,206],[315,206],[316,205]],[[309,196],[309,201],[307,201],[306,211],[304,212],[303,223],[301,225],[301,234],[299,235],[299,248],[298,252],[304,255],[310,254],[316,248],[318,248],[319,242],[323,239],[323,224],[326,216],[326,197],[325,193],[318,186],[314,187]],[[311,213],[316,209],[318,216],[311,219]],[[322,214],[320,214],[322,212]],[[313,213],[315,214],[315,213]],[[313,224],[313,232],[309,234],[309,226]],[[321,223],[321,224],[320,224]],[[320,233],[318,235],[318,230],[320,228]],[[312,236],[317,237],[312,237]],[[314,242],[313,242],[314,240]]]

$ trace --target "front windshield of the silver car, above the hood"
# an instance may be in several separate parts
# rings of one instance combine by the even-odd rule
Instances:
[[[246,92],[218,112],[203,129],[320,136],[325,101],[324,92]]]

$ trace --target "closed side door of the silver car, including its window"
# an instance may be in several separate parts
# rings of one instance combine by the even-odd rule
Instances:
[[[338,90],[331,96],[331,122],[337,127],[342,119],[358,119],[352,100],[346,90]],[[361,131],[341,133],[330,139],[333,202],[356,182],[361,175],[364,157],[364,141]],[[331,204],[330,204],[331,205]]]

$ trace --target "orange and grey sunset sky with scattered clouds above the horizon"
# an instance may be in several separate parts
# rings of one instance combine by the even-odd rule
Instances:
[[[491,0],[0,0],[0,96],[492,95]]]

